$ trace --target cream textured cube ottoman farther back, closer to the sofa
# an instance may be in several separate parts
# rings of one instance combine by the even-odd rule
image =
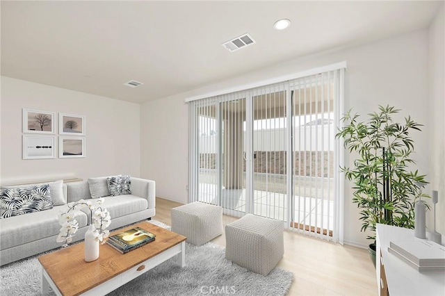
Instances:
[[[223,234],[223,208],[202,202],[172,208],[172,231],[193,245],[204,245]]]

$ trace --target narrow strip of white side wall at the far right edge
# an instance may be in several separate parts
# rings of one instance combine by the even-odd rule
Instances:
[[[445,4],[438,10],[429,30],[428,101],[430,125],[430,181],[432,190],[439,191],[436,226],[445,243]],[[431,217],[431,215],[430,215]],[[432,221],[430,221],[432,223]]]

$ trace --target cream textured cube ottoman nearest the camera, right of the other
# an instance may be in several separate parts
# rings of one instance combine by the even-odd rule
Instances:
[[[259,274],[269,274],[284,254],[280,220],[245,215],[226,225],[225,239],[225,257]]]

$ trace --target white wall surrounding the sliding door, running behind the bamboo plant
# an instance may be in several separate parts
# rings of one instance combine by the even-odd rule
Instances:
[[[353,107],[358,113],[366,114],[377,110],[378,104],[394,105],[403,109],[403,115],[412,115],[414,120],[425,124],[424,130],[428,131],[428,109],[421,108],[428,101],[428,31],[421,30],[360,47],[289,60],[230,81],[143,104],[140,115],[141,175],[157,181],[158,196],[186,203],[188,107],[184,99],[343,60],[348,63],[346,110]],[[419,171],[428,174],[428,132],[413,133],[412,136],[419,152],[414,156]],[[346,183],[346,188],[350,187],[351,184]],[[350,202],[351,192],[345,192],[345,240],[364,246],[369,241],[366,234],[360,232],[357,206]]]

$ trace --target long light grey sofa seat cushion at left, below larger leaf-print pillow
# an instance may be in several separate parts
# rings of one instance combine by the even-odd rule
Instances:
[[[8,249],[27,242],[40,240],[49,236],[57,236],[60,231],[58,212],[65,206],[55,206],[48,211],[40,211],[8,217],[0,220],[0,249]],[[85,213],[78,212],[75,215],[79,228],[87,225]],[[75,234],[77,236],[79,234]],[[56,238],[54,238],[54,241]],[[61,246],[62,244],[60,244]]]

